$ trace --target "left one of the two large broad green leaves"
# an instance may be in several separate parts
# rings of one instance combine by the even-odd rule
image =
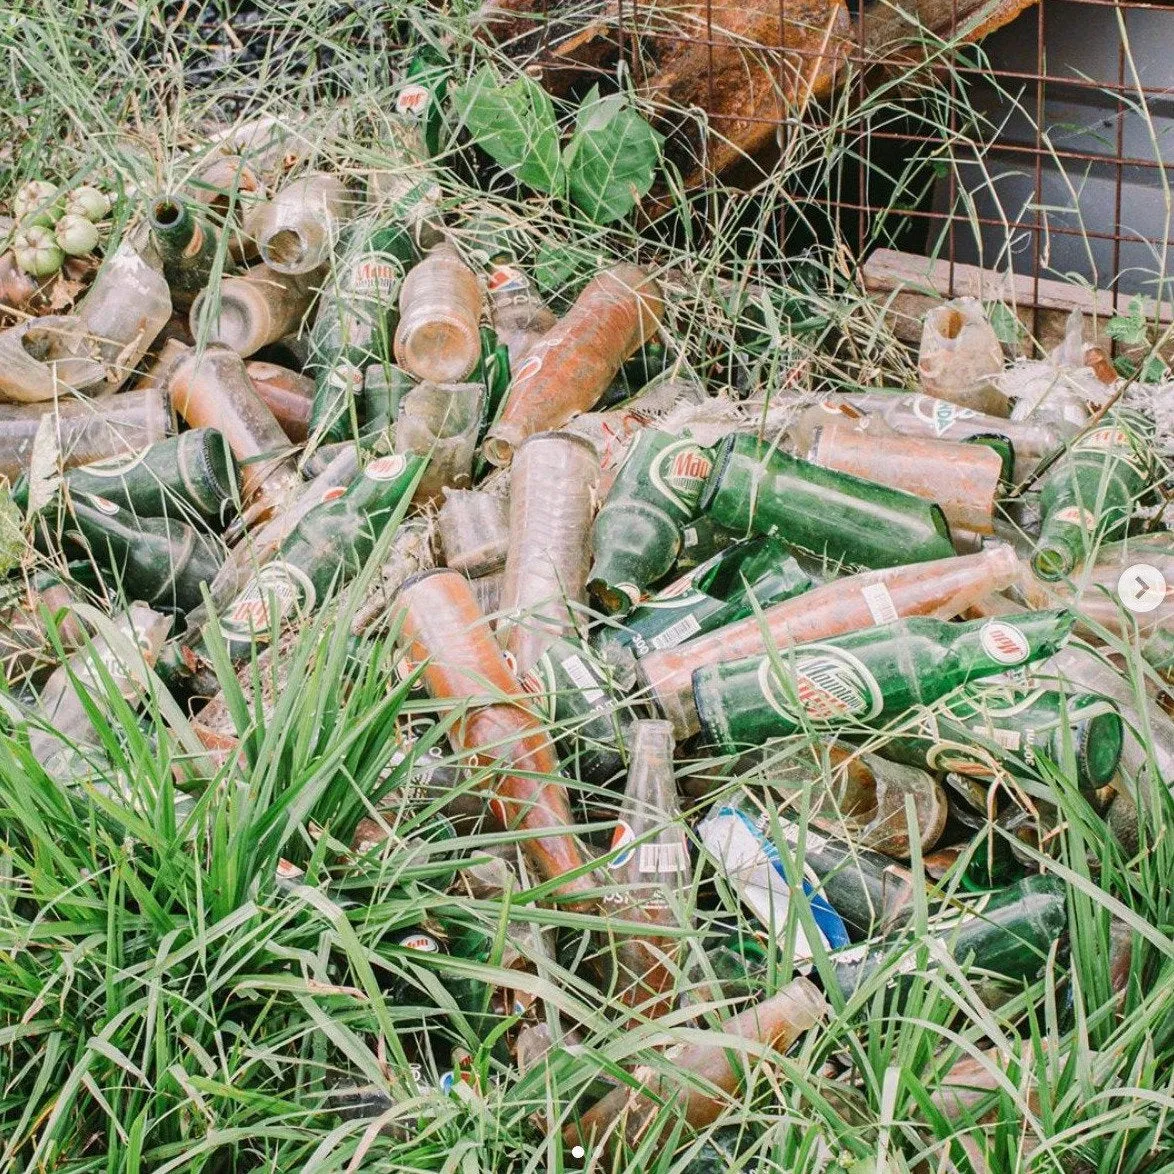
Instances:
[[[452,94],[453,108],[473,142],[520,183],[562,190],[559,127],[546,90],[525,75],[508,86],[488,66]]]

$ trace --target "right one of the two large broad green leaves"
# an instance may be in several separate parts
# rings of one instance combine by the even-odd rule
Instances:
[[[594,87],[564,155],[571,198],[596,224],[626,216],[652,188],[663,143],[622,94]]]

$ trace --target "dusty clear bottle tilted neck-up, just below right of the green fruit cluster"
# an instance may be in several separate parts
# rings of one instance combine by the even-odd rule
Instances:
[[[94,340],[104,389],[114,391],[139,369],[170,319],[171,294],[163,275],[123,241],[102,262],[73,316]]]

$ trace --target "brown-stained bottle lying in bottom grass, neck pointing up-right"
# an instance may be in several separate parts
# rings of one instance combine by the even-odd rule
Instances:
[[[662,1064],[636,1067],[630,1085],[619,1085],[566,1126],[564,1145],[593,1147],[602,1142],[614,1156],[623,1141],[630,1147],[639,1145],[667,1101],[689,1126],[703,1129],[726,1112],[748,1077],[749,1066],[736,1059],[742,1051],[730,1048],[726,1040],[754,1040],[782,1054],[826,1011],[815,985],[796,978],[771,998],[727,1019],[713,1043],[676,1044],[664,1053]]]

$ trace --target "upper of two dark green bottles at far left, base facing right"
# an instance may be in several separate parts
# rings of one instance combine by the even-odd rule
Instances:
[[[126,457],[79,465],[65,473],[70,494],[113,501],[140,518],[200,518],[221,528],[234,510],[236,460],[215,429],[193,429]],[[23,508],[25,478],[13,490]]]

